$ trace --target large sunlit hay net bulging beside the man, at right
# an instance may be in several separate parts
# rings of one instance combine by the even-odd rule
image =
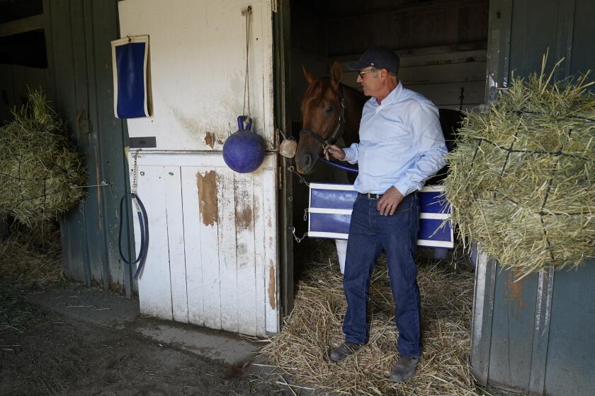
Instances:
[[[469,112],[449,153],[444,194],[467,242],[523,276],[595,256],[595,95],[588,74],[553,81],[557,62],[511,79]]]

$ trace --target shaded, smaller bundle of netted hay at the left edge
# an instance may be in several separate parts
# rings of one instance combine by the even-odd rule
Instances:
[[[51,219],[84,196],[83,159],[41,91],[0,127],[0,215],[23,223]]]

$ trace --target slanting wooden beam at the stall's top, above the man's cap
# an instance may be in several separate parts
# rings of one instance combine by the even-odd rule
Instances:
[[[347,19],[357,19],[362,17],[369,17],[375,15],[382,15],[385,13],[434,13],[439,11],[451,11],[458,8],[467,8],[472,6],[481,6],[482,4],[489,4],[489,0],[455,0],[455,1],[427,1],[424,3],[407,4],[403,6],[375,8],[372,11],[356,11],[350,13],[335,13],[329,16],[327,21],[339,22]]]

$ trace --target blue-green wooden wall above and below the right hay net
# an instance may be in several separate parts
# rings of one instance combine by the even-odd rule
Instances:
[[[513,72],[539,71],[548,48],[549,66],[566,59],[559,80],[595,71],[593,16],[593,0],[492,0],[487,100],[496,96],[493,81],[506,86]],[[514,278],[495,260],[478,268],[471,356],[477,380],[530,395],[594,395],[595,261]]]

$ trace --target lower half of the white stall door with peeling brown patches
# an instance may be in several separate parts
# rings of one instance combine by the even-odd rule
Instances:
[[[242,175],[218,153],[138,158],[149,218],[142,314],[242,334],[278,331],[275,161],[267,156]],[[137,223],[135,235],[138,250]]]

